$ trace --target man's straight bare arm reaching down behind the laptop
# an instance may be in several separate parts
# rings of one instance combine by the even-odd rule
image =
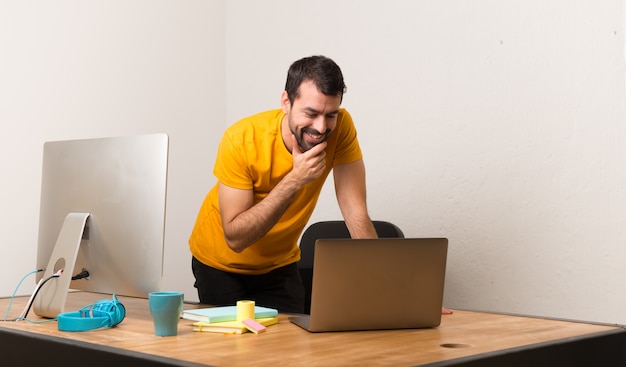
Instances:
[[[363,160],[333,167],[335,193],[341,214],[352,238],[376,238],[367,213],[365,165]]]

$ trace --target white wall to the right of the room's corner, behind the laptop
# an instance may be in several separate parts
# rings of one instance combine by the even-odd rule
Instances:
[[[446,305],[626,323],[621,1],[228,4],[228,119],[333,57],[371,215],[449,238]]]

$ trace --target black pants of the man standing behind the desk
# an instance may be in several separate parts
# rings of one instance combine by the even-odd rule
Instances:
[[[252,300],[258,306],[276,308],[279,312],[304,312],[304,287],[297,263],[267,274],[248,275],[221,271],[193,257],[191,269],[200,303],[232,306],[240,300]]]

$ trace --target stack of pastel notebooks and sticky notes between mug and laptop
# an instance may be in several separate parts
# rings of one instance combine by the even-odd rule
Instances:
[[[193,330],[223,334],[260,333],[265,327],[278,323],[278,310],[254,306],[254,319],[237,320],[237,306],[222,306],[184,310],[181,316],[195,321]]]

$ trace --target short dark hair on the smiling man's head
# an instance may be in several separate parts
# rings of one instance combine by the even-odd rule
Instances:
[[[327,96],[339,96],[343,99],[346,92],[339,65],[326,56],[309,56],[295,61],[287,72],[285,91],[291,104],[300,96],[300,85],[307,80],[313,81],[317,89]]]

